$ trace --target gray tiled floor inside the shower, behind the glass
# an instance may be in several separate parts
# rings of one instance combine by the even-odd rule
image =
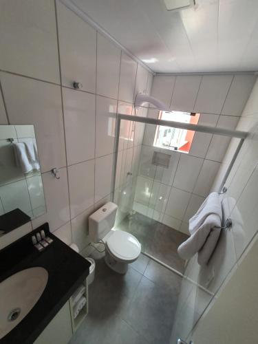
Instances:
[[[139,213],[126,217],[117,229],[137,237],[142,244],[142,252],[184,272],[184,260],[178,255],[178,246],[188,238],[184,233]]]

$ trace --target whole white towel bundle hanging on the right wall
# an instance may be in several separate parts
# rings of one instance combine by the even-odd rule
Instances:
[[[198,264],[207,264],[217,245],[221,226],[222,204],[219,195],[212,193],[189,220],[191,237],[178,247],[180,257],[190,259],[198,253]]]

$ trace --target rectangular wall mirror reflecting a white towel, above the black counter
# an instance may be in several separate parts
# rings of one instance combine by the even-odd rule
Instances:
[[[33,125],[0,125],[0,215],[19,209],[45,213],[45,197]]]

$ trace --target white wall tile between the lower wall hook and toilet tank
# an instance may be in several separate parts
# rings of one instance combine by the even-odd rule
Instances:
[[[94,160],[68,167],[71,217],[94,204]]]

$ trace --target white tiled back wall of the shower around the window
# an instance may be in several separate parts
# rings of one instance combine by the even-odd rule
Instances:
[[[235,129],[254,83],[248,74],[158,75],[151,94],[171,110],[200,112],[200,125]],[[148,116],[158,118],[158,111]],[[230,138],[196,132],[186,154],[153,147],[154,136],[155,126],[147,125],[134,209],[188,234],[188,220],[211,191]],[[169,169],[152,164],[154,151],[171,155]]]

